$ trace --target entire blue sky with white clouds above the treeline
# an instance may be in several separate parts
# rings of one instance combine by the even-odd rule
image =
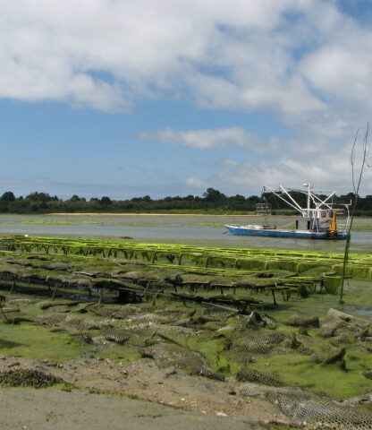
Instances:
[[[371,52],[372,0],[0,0],[0,194],[349,193]]]

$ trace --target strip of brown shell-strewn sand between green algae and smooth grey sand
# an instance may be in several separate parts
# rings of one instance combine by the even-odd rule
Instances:
[[[140,399],[145,405],[157,404],[158,407],[166,408],[171,415],[176,413],[174,411],[177,411],[178,414],[183,410],[185,413],[190,411],[201,417],[225,415],[229,419],[236,419],[237,422],[257,423],[271,419],[286,422],[283,414],[271,403],[242,397],[239,394],[239,386],[235,385],[233,381],[216,381],[203,376],[190,376],[175,370],[168,373],[166,369],[158,369],[155,362],[149,358],[121,366],[111,360],[97,360],[89,355],[71,360],[63,365],[32,361],[21,357],[15,359],[15,357],[0,356],[0,372],[13,369],[35,369],[45,374],[53,374],[80,389],[71,391],[73,394],[93,391],[98,392],[98,397],[102,397],[102,399],[106,399],[108,396],[107,399],[122,400],[128,399],[123,396],[131,396]],[[1,411],[4,410],[2,403],[7,400],[7,397],[3,395],[6,390],[0,388],[0,430],[4,429],[1,426]],[[10,392],[15,395],[18,391],[24,390],[16,389]],[[45,390],[35,392],[42,391]],[[61,395],[65,393],[65,391],[55,391]],[[110,401],[107,400],[107,404]],[[12,404],[16,402],[17,400],[11,401]],[[26,409],[30,410],[27,406]],[[92,413],[95,411],[93,410]],[[90,429],[89,426],[77,428]],[[237,429],[239,428],[241,427],[237,427]]]

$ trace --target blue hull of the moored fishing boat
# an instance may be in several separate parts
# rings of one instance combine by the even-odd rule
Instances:
[[[247,228],[244,226],[224,226],[232,235],[236,236],[264,236],[264,237],[298,237],[307,239],[346,239],[346,233],[329,231],[309,231],[309,230],[284,230],[276,228]]]

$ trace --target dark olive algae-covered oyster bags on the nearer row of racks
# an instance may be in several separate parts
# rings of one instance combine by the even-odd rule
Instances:
[[[148,293],[159,285],[163,293],[170,294],[177,285],[177,288],[189,288],[189,292],[201,294],[206,299],[216,297],[218,301],[222,299],[248,301],[249,297],[255,293],[255,289],[275,288],[278,293],[284,294],[285,291],[289,292],[292,288],[298,288],[304,282],[311,285],[311,283],[323,280],[324,284],[335,282],[336,286],[338,282],[337,278],[329,276],[322,278],[318,273],[315,278],[309,276],[299,278],[295,276],[295,272],[288,270],[248,271],[232,267],[189,266],[169,262],[151,263],[148,262],[148,260],[151,261],[148,255],[139,261],[102,258],[94,255],[15,251],[3,252],[0,253],[0,256],[3,257],[0,259],[0,273],[11,274],[13,283],[21,284],[23,288],[24,282],[29,282],[28,287],[32,287],[37,281],[39,284],[52,283],[51,288],[56,288],[56,284],[59,284],[59,288],[63,288],[65,292],[72,291],[73,286],[87,290],[103,286],[129,288],[128,281],[134,281],[141,286],[140,288],[146,287]],[[12,280],[8,280],[8,283],[11,282]],[[149,285],[149,282],[152,284]],[[165,285],[166,282],[168,282],[167,285]],[[135,285],[133,285],[134,287]],[[40,285],[39,288],[46,287]],[[221,293],[218,297],[217,291]],[[285,299],[285,294],[283,297]]]

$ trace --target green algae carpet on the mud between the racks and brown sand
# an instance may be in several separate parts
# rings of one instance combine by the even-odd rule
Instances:
[[[360,290],[363,293],[362,287]],[[358,291],[358,286],[354,286],[353,294]],[[265,294],[262,294],[262,296],[265,296]],[[25,296],[13,294],[10,299],[14,300],[15,297],[22,299]],[[66,301],[56,299],[56,304],[60,307],[47,307],[43,310],[42,302],[38,299],[37,303],[35,301],[31,301],[31,303],[20,302],[19,306],[24,314],[33,315],[34,317],[44,315],[43,320],[37,319],[36,321],[39,321],[39,323],[43,321],[47,326],[31,325],[30,323],[13,326],[2,323],[0,352],[31,359],[48,359],[58,362],[80,357],[82,354],[89,352],[89,355],[100,359],[113,360],[114,364],[122,366],[140,360],[142,357],[141,348],[148,345],[156,346],[160,342],[160,344],[178,345],[182,347],[182,351],[190,350],[191,352],[199,353],[215,374],[235,376],[240,372],[242,366],[247,366],[243,365],[243,363],[244,360],[247,361],[250,357],[248,362],[249,369],[258,371],[258,374],[266,375],[266,378],[280,380],[292,387],[308,389],[332,398],[363,394],[370,389],[370,381],[363,375],[363,372],[368,372],[372,369],[370,352],[365,348],[360,348],[358,342],[351,341],[346,347],[345,368],[340,366],[340,363],[322,365],[314,359],[313,355],[319,354],[322,356],[326,354],[327,349],[334,348],[333,340],[320,337],[318,329],[308,329],[308,336],[300,336],[297,327],[285,325],[286,315],[293,314],[294,309],[298,309],[303,315],[317,313],[321,316],[326,313],[332,300],[334,300],[333,296],[325,294],[320,297],[309,297],[305,300],[300,298],[293,299],[285,305],[278,305],[275,311],[270,311],[269,313],[274,317],[272,321],[276,323],[274,326],[267,327],[250,325],[247,323],[247,316],[229,316],[226,310],[191,303],[185,305],[164,298],[159,298],[156,300],[156,305],[152,306],[148,305],[146,301],[138,305],[100,305],[98,307],[101,310],[101,316],[91,312],[95,305],[90,305],[84,314],[80,313],[84,304],[70,307],[67,314],[72,315],[67,320],[71,322],[69,327],[76,327],[73,330],[79,330],[81,335],[89,336],[89,338],[101,337],[104,339],[105,333],[114,334],[116,330],[114,328],[107,328],[105,331],[98,328],[87,331],[87,328],[84,328],[84,321],[92,324],[91,320],[94,319],[99,324],[102,318],[107,317],[110,317],[110,324],[116,324],[117,330],[126,333],[126,339],[128,340],[125,340],[123,344],[106,340],[105,342],[100,342],[97,348],[97,346],[91,344],[81,343],[80,335],[69,335],[64,331],[65,329],[63,329],[61,323],[59,323],[58,331],[50,331],[48,325],[54,325],[56,321],[63,322],[66,314],[63,317],[63,314],[55,314],[55,310],[60,312],[60,308]],[[45,303],[45,300],[43,303]],[[319,303],[321,305],[317,306]],[[165,319],[162,323],[163,325],[157,329],[155,326],[154,328],[149,326],[140,330],[131,328],[133,323],[135,324],[136,315],[140,316],[147,313],[156,313],[160,318]],[[115,315],[119,319],[113,319]],[[57,316],[58,318],[55,319]],[[125,318],[129,318],[129,321],[126,321]],[[139,320],[139,324],[142,324],[141,321]],[[182,326],[181,321],[189,322],[183,324],[184,327],[187,327],[184,332],[176,329]],[[224,327],[225,330],[217,331],[216,327],[211,325],[212,323],[215,323],[216,327]],[[262,339],[259,338],[259,333],[262,334]],[[289,344],[286,341],[291,340],[294,334],[299,345],[296,348],[293,348],[293,343]],[[277,336],[279,336],[278,339],[282,340],[279,343],[276,341],[276,343],[270,343],[269,340],[275,339]],[[111,337],[114,339],[114,336]],[[244,341],[253,340],[254,338],[257,338],[258,345],[265,346],[262,351],[252,344],[249,350],[243,353],[241,357],[233,353],[234,348],[240,345],[239,342],[236,343],[236,339]],[[274,349],[268,348],[267,352],[265,352],[270,345],[272,345],[270,348]],[[292,345],[292,349],[290,348],[283,353],[281,352],[282,345]],[[288,348],[288,346],[285,348]],[[273,350],[275,354],[269,353],[270,350]],[[165,348],[165,351],[172,352],[173,349]],[[176,350],[174,349],[174,351]],[[309,354],[309,351],[311,351],[311,354]],[[253,356],[251,356],[252,353]],[[182,361],[182,363],[184,362]],[[185,362],[184,366],[187,368],[187,362]]]

